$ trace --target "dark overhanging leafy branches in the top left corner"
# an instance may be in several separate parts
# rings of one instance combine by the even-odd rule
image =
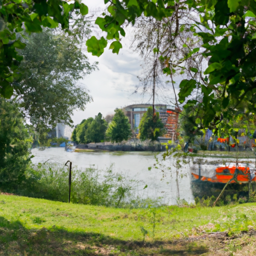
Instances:
[[[22,91],[17,82],[22,60],[17,49],[25,47],[20,40],[22,33],[38,33],[42,27],[56,28],[58,24],[67,30],[69,19],[78,13],[88,13],[87,6],[78,0],[0,1],[0,95],[10,98],[13,90]]]

